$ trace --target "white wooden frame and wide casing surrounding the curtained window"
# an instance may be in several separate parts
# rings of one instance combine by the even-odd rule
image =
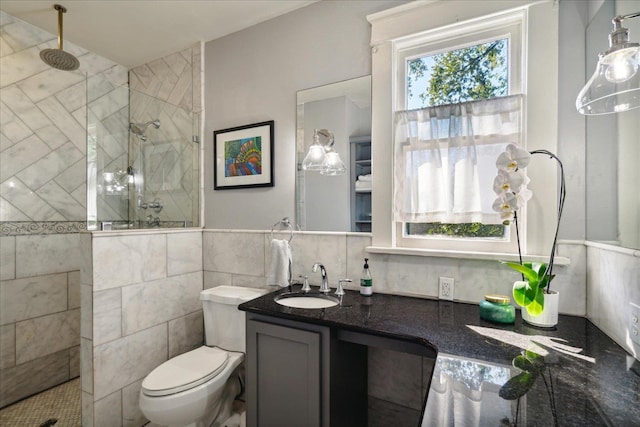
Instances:
[[[446,242],[403,237],[394,218],[394,115],[405,110],[405,59],[509,37],[509,95],[522,102],[522,144],[529,150],[558,149],[558,7],[549,1],[409,2],[367,16],[372,45],[373,224],[370,252],[473,259],[517,259],[508,248],[489,242]],[[514,29],[515,31],[511,31]],[[503,37],[501,37],[503,36]],[[425,48],[426,47],[426,48]],[[473,101],[482,103],[484,101]],[[419,110],[414,110],[419,111]],[[540,159],[527,168],[533,193],[519,215],[520,238],[527,259],[547,258],[555,224],[557,170]],[[492,167],[495,173],[495,166]],[[513,227],[511,231],[515,232]],[[514,239],[515,240],[515,239]],[[508,246],[508,244],[506,245]],[[515,246],[515,245],[514,245]],[[414,250],[412,248],[419,248]],[[453,250],[451,250],[453,249]]]

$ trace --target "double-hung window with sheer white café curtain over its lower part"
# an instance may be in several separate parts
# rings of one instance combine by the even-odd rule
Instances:
[[[462,23],[396,45],[398,246],[517,250],[492,210],[492,183],[498,155],[522,144],[523,104],[509,96],[523,92],[522,19]]]

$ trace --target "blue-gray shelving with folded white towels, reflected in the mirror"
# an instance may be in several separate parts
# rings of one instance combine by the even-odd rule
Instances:
[[[371,185],[356,186],[358,177],[371,174],[371,137],[349,138],[351,145],[351,231],[371,232]]]

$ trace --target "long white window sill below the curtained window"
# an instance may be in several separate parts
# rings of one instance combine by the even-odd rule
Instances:
[[[384,246],[367,246],[365,250],[372,254],[389,254],[389,255],[413,255],[437,258],[458,258],[458,259],[475,259],[484,261],[519,261],[518,255],[495,252],[465,252],[465,251],[445,251],[435,249],[416,249],[416,248],[392,248]],[[549,262],[548,255],[523,255],[522,257],[529,262]],[[571,260],[567,257],[556,255],[554,265],[569,265]]]

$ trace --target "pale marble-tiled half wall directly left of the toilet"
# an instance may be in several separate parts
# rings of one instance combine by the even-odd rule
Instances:
[[[202,230],[83,233],[81,247],[83,426],[142,426],[144,377],[203,344]]]

